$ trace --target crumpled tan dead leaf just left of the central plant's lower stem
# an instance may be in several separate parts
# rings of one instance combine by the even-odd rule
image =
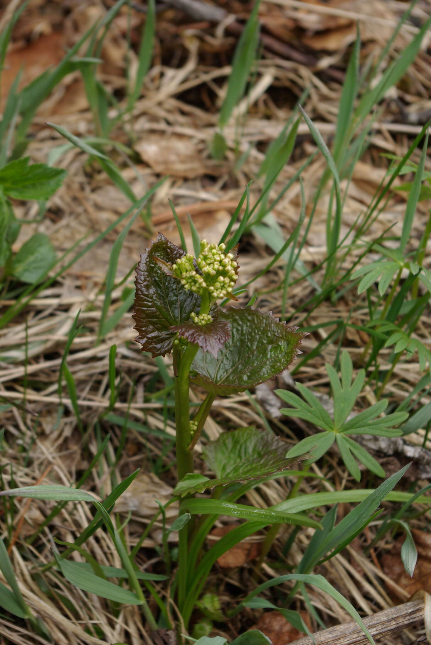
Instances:
[[[172,497],[173,488],[165,484],[154,473],[142,473],[131,482],[129,488],[122,493],[115,504],[116,513],[131,511],[140,517],[153,517],[159,506],[156,499],[166,504]],[[166,509],[166,517],[177,517],[178,503],[174,502]]]

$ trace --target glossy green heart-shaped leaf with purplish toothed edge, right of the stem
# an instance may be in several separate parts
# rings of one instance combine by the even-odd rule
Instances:
[[[213,357],[199,350],[191,366],[191,378],[218,395],[244,392],[272,379],[296,357],[305,333],[280,323],[271,313],[250,308],[229,308],[220,321],[231,328],[223,351]],[[194,373],[193,373],[194,372]]]

